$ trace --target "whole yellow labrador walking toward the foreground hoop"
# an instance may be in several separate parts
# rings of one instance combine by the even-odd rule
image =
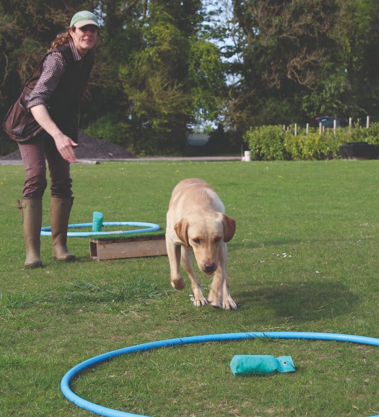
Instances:
[[[234,236],[235,221],[224,214],[222,201],[212,187],[198,178],[180,181],[172,191],[167,211],[166,245],[170,262],[171,285],[185,286],[179,264],[188,272],[194,292],[194,304],[236,310],[226,279],[226,243]],[[214,273],[208,295],[204,297],[192,266],[193,251],[199,269]]]

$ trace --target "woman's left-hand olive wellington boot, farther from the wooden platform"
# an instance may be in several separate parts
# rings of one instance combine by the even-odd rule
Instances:
[[[27,269],[41,268],[42,262],[39,250],[41,246],[42,200],[23,198],[17,200],[17,207],[21,211],[22,228],[24,230],[26,251],[24,267]]]

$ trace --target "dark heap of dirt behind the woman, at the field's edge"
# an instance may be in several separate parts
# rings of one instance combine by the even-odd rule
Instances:
[[[119,145],[102,141],[96,137],[88,136],[79,130],[79,146],[75,148],[77,159],[124,159],[136,158],[133,154]],[[0,159],[21,159],[20,151],[12,152]]]

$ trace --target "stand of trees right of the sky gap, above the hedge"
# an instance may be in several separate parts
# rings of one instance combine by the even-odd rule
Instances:
[[[377,2],[233,0],[233,11],[231,128],[378,115]]]

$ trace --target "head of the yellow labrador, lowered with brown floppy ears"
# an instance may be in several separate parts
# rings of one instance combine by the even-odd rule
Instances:
[[[176,235],[194,250],[199,269],[211,275],[218,266],[224,242],[229,242],[235,233],[235,220],[213,210],[193,212],[174,226]]]

